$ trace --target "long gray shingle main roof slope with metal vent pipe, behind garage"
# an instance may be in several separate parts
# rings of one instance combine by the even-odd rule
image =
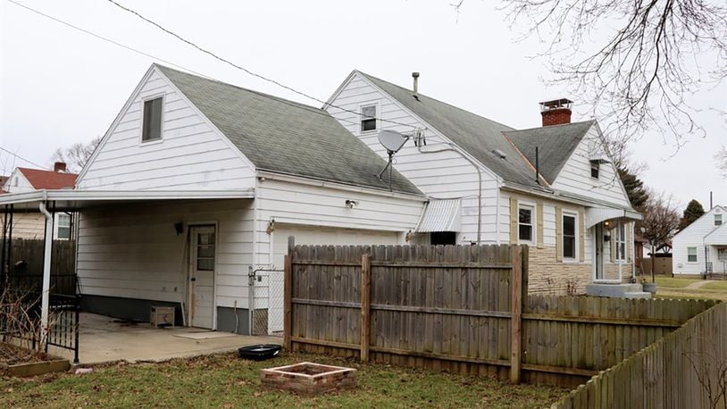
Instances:
[[[501,178],[526,187],[539,188],[535,182],[535,171],[503,135],[503,132],[514,130],[513,128],[429,96],[419,94],[418,99],[414,98],[410,89],[361,71],[357,72],[439,130],[457,146],[472,154]],[[506,154],[506,159],[493,154],[492,151],[496,149]]]

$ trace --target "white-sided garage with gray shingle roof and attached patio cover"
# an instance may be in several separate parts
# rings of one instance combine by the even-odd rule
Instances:
[[[280,270],[297,244],[405,244],[427,198],[320,108],[152,65],[74,191],[4,195],[79,213],[86,311],[248,333],[282,330]],[[274,277],[281,278],[282,274]],[[270,301],[270,304],[268,304]],[[257,329],[259,330],[259,329]]]

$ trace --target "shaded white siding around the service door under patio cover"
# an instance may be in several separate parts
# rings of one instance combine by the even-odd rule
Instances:
[[[218,224],[217,305],[247,308],[253,201],[166,202],[85,211],[79,220],[81,294],[186,302],[189,224]],[[178,235],[174,223],[185,224]]]

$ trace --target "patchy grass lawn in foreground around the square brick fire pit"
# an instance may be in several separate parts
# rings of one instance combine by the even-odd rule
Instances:
[[[358,388],[296,396],[263,388],[260,369],[313,361],[358,369]],[[562,388],[513,386],[485,377],[360,364],[322,355],[255,363],[236,355],[117,364],[83,375],[0,378],[0,407],[544,407]]]

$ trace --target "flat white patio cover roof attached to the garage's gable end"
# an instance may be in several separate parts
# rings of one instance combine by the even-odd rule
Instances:
[[[55,211],[73,212],[96,205],[155,202],[163,200],[247,199],[255,189],[242,190],[33,190],[0,195],[0,206],[13,205],[13,211],[38,212],[41,203],[53,203]],[[0,209],[0,212],[2,210]]]

